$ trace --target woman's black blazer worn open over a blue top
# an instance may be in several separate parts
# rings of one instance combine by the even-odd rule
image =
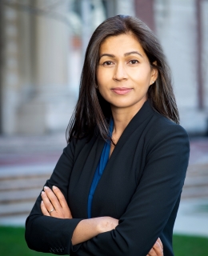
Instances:
[[[145,102],[110,156],[94,193],[92,218],[119,219],[115,230],[71,246],[74,228],[87,218],[87,198],[104,146],[95,136],[73,140],[63,150],[51,178],[70,206],[73,219],[42,216],[38,196],[26,220],[30,249],[54,254],[146,256],[157,238],[164,255],[174,255],[172,235],[189,159],[186,131]]]

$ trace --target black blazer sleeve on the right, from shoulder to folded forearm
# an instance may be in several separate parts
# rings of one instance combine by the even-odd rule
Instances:
[[[190,146],[186,131],[166,126],[147,146],[146,167],[115,230],[71,247],[71,255],[146,255],[160,237],[182,192]]]

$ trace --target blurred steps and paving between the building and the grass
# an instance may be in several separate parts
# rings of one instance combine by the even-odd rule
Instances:
[[[0,225],[24,225],[65,146],[64,134],[0,137]],[[174,233],[208,237],[208,138],[193,138],[190,146]]]

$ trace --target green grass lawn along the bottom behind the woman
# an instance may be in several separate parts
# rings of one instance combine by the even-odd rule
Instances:
[[[38,256],[51,255],[37,253],[26,246],[24,229],[0,226],[1,256]],[[174,235],[175,256],[206,256],[208,255],[208,238]],[[127,256],[127,255],[126,255]]]

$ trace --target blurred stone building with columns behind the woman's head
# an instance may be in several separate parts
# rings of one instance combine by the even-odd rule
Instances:
[[[162,42],[182,126],[190,134],[205,134],[207,13],[206,0],[0,1],[1,133],[66,130],[90,34],[105,18],[130,14]]]

